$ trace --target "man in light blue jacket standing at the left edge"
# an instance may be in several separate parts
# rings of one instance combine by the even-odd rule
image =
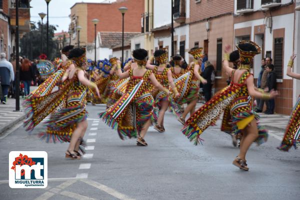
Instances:
[[[12,64],[6,60],[6,54],[0,54],[0,81],[2,87],[1,103],[6,104],[10,81],[14,80]]]

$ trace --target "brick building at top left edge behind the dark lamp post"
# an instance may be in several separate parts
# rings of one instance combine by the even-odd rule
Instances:
[[[0,0],[0,52],[15,54],[15,1]],[[29,0],[19,4],[19,33],[30,31]]]

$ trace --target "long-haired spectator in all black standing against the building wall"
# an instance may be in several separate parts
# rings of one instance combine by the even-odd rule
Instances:
[[[214,67],[207,60],[204,64],[204,71],[202,73],[202,77],[204,79],[206,79],[206,81],[207,81],[206,84],[203,84],[203,93],[204,93],[205,102],[209,101],[211,98],[211,88],[212,88],[211,76],[212,76],[212,73],[214,73]]]

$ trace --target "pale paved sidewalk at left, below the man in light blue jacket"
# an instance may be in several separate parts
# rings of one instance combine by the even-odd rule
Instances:
[[[8,98],[6,104],[0,104],[0,134],[25,118],[20,97],[20,111],[15,112],[15,99]]]

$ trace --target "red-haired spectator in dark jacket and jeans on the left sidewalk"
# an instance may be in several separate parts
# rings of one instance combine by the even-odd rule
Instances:
[[[24,84],[24,96],[27,96],[30,93],[30,83],[32,79],[31,62],[25,58],[20,67],[20,80]]]

